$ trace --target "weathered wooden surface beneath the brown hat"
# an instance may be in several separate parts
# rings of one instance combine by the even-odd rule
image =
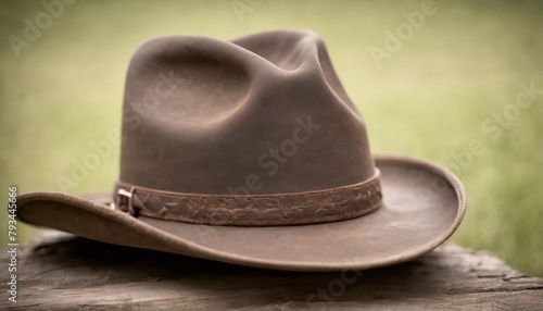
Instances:
[[[10,256],[2,251],[1,277]],[[5,290],[2,290],[5,297]],[[412,262],[336,273],[230,265],[53,234],[17,249],[9,310],[543,310],[543,279],[453,244]]]

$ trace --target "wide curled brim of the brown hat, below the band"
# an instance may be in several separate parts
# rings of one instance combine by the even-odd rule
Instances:
[[[458,178],[428,161],[377,156],[383,206],[357,219],[294,226],[211,226],[111,210],[111,194],[18,197],[17,216],[103,242],[288,271],[371,269],[417,258],[458,227],[466,195]]]

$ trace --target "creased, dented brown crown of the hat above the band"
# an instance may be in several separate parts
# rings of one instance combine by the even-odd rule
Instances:
[[[121,177],[187,194],[286,194],[374,175],[321,39],[272,32],[146,42],[126,79]]]

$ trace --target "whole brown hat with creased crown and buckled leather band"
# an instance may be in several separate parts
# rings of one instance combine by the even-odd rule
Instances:
[[[371,154],[321,39],[282,30],[146,42],[126,79],[113,191],[21,195],[17,216],[110,244],[333,271],[421,256],[465,210],[446,169]]]

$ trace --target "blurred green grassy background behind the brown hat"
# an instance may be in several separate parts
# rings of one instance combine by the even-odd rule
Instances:
[[[403,25],[424,2],[79,0],[49,21],[41,1],[2,1],[0,199],[10,185],[60,191],[72,161],[119,128],[127,65],[142,41],[307,28],[324,37],[374,152],[427,158],[460,176],[468,211],[452,239],[543,276],[543,94],[515,108],[519,84],[543,89],[543,2],[437,0],[421,25]],[[25,35],[27,23],[43,29]],[[387,57],[376,62],[377,49]],[[114,148],[68,191],[111,189],[118,156]],[[1,231],[5,246],[5,221]],[[18,224],[17,233],[26,242],[38,232]]]

